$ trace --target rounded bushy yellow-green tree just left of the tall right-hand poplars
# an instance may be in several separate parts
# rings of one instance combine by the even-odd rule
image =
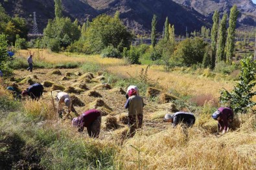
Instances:
[[[191,66],[202,63],[207,43],[201,37],[187,38],[177,45],[173,61],[179,65]]]

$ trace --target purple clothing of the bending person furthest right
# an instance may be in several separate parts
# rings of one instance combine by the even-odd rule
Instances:
[[[234,113],[228,107],[220,107],[218,108],[218,111],[220,111],[220,120],[218,120],[218,125],[227,131],[228,120],[230,118],[233,119]]]

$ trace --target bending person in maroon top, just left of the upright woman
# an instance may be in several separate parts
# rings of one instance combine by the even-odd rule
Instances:
[[[91,138],[99,138],[101,125],[101,112],[96,109],[90,109],[77,118],[73,118],[72,125],[78,127],[78,132],[87,128],[87,133]]]

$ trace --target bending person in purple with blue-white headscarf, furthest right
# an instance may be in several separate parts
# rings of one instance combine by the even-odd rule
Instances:
[[[225,134],[229,131],[229,126],[233,122],[234,113],[228,107],[220,107],[213,113],[212,118],[218,121],[218,129]]]

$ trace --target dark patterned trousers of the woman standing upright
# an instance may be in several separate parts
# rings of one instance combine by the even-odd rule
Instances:
[[[134,136],[136,129],[142,127],[143,114],[128,116],[129,122],[128,126],[130,128],[130,137]]]

